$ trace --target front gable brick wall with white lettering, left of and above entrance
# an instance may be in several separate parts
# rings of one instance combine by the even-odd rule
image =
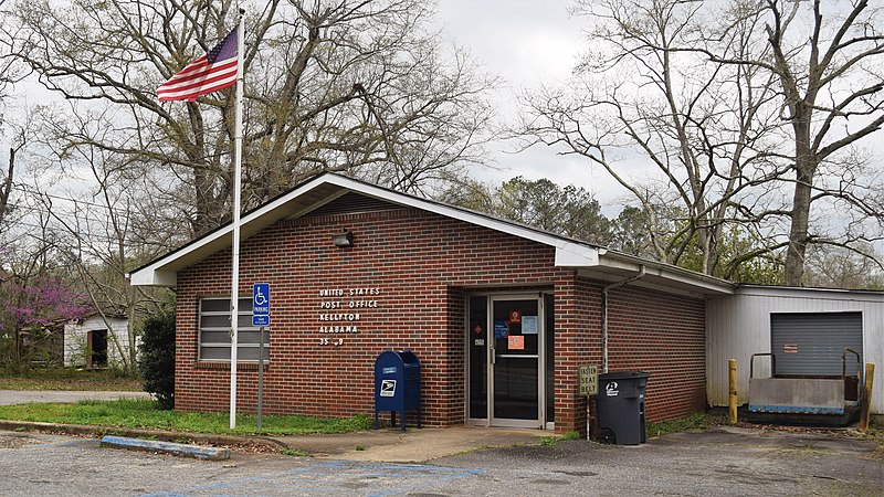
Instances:
[[[332,233],[345,228],[355,236],[351,248],[332,244]],[[254,282],[272,286],[264,412],[372,413],[377,355],[408,348],[421,360],[424,421],[463,423],[465,289],[572,281],[573,272],[555,267],[554,258],[550,246],[411,209],[301,218],[251,236],[241,248],[240,294],[250,296]],[[229,366],[197,360],[199,298],[228,295],[229,287],[230,251],[178,274],[178,410],[229,406]],[[320,325],[332,324],[318,319],[320,303],[330,300],[319,290],[358,287],[380,288],[371,297],[378,308],[361,309],[352,322],[359,332],[319,334]],[[319,346],[323,337],[344,338],[344,345]],[[239,370],[240,411],[253,412],[256,368]]]

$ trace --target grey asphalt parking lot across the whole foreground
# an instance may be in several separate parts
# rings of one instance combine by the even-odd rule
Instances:
[[[713,427],[641,446],[586,441],[429,464],[234,453],[227,462],[0,432],[3,495],[884,495],[882,448],[843,432]]]

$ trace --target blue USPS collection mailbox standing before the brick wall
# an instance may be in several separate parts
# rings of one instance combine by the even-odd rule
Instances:
[[[398,411],[403,432],[406,411],[418,411],[418,427],[421,427],[421,363],[413,352],[388,350],[375,361],[375,429],[381,411],[390,411],[393,426]]]

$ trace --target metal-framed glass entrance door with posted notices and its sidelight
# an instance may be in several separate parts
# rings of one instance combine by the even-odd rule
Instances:
[[[543,310],[536,294],[470,298],[467,412],[474,422],[544,426]]]

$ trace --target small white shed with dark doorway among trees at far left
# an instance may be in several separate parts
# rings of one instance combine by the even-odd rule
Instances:
[[[64,366],[106,368],[128,357],[129,321],[94,314],[64,326]],[[136,340],[137,342],[140,340]]]

